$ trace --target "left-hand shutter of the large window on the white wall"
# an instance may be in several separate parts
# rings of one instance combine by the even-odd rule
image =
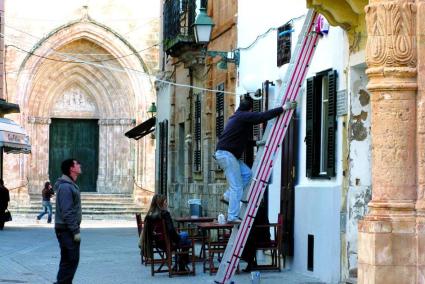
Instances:
[[[306,175],[311,178],[313,176],[313,108],[314,108],[314,77],[307,79],[307,109],[306,109]]]

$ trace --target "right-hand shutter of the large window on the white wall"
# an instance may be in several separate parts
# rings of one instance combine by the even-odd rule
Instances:
[[[336,130],[336,70],[328,72],[328,169],[329,177],[335,176],[335,130]]]

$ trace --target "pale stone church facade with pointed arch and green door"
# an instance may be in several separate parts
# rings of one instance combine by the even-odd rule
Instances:
[[[24,202],[82,160],[82,191],[154,191],[154,140],[124,133],[148,118],[158,65],[156,1],[6,1],[6,96],[30,155],[5,155],[5,181]],[[15,199],[16,200],[16,199]],[[140,200],[139,200],[140,201]]]

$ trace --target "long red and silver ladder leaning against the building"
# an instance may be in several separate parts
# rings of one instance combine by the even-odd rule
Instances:
[[[317,32],[317,12],[309,10],[305,18],[303,29],[299,35],[295,54],[291,58],[284,82],[286,86],[277,98],[279,105],[284,105],[287,101],[297,99],[302,83],[307,75],[307,70],[313,58],[316,44],[320,33]],[[228,241],[223,258],[220,262],[216,274],[215,283],[228,283],[233,277],[239,264],[240,256],[244,250],[254,218],[257,214],[258,206],[263,198],[264,191],[268,185],[272,172],[274,158],[280,148],[286,130],[292,118],[294,110],[288,110],[279,116],[274,123],[268,123],[264,137],[267,137],[264,147],[257,154],[253,166],[253,179],[248,191],[245,190],[241,214],[242,222],[235,226]]]

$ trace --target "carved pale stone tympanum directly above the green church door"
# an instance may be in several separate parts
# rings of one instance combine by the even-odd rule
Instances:
[[[53,114],[61,115],[70,112],[97,113],[97,106],[93,100],[81,89],[72,88],[66,91],[55,103]]]

